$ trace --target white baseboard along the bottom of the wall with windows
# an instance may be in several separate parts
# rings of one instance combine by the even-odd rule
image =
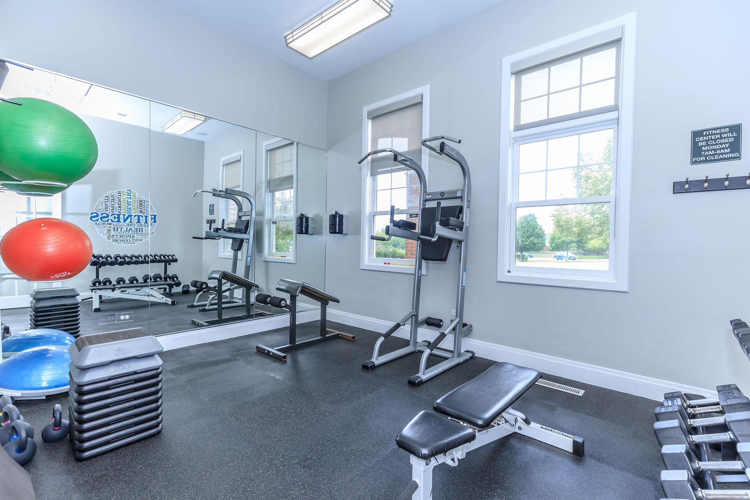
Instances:
[[[357,328],[365,328],[372,331],[384,332],[393,325],[393,322],[383,319],[360,316],[359,314],[347,313],[339,310],[329,310],[328,319],[344,323]],[[420,339],[433,340],[437,337],[434,330],[428,328],[419,329]],[[402,326],[395,334],[404,339],[409,338],[409,328]],[[449,335],[441,345],[451,346],[453,336]],[[669,382],[667,380],[653,379],[652,377],[637,375],[635,373],[612,370],[611,368],[598,367],[594,364],[580,363],[565,358],[544,355],[538,352],[524,351],[513,347],[501,346],[495,343],[474,340],[470,337],[463,338],[463,349],[473,351],[481,358],[493,361],[508,361],[523,367],[533,368],[543,373],[563,377],[565,379],[577,380],[585,384],[612,389],[613,391],[634,394],[635,396],[647,397],[650,400],[661,401],[665,392],[683,391],[704,396],[715,396],[716,391],[704,388],[696,388],[690,385]],[[364,360],[363,360],[364,361]]]

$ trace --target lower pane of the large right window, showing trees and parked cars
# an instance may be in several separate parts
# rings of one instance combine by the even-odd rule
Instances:
[[[609,203],[517,208],[515,264],[607,271],[609,226]]]

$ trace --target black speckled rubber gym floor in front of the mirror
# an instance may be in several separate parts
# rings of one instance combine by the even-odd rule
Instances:
[[[300,334],[316,325],[300,325]],[[67,439],[37,438],[26,466],[37,498],[395,499],[411,479],[409,454],[395,445],[398,431],[493,361],[476,358],[412,388],[407,378],[418,358],[365,372],[377,334],[331,326],[356,341],[290,352],[286,363],[255,350],[284,343],[285,330],[164,352],[163,432],[86,462],[74,460]],[[386,342],[404,345],[395,337]],[[655,401],[544,379],[586,394],[535,385],[514,408],[583,436],[586,456],[511,435],[472,451],[458,467],[434,469],[434,499],[660,499]],[[61,395],[18,405],[39,434],[52,405],[65,402]]]

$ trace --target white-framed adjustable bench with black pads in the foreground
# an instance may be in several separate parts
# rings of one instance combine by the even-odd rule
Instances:
[[[398,500],[432,499],[435,466],[458,466],[469,451],[512,433],[583,457],[582,438],[535,424],[511,408],[540,376],[531,368],[496,363],[437,400],[435,412],[419,412],[396,437],[398,447],[412,455],[413,477]]]

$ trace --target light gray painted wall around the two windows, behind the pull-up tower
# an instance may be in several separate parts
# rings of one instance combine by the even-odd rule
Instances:
[[[350,214],[350,234],[329,241],[326,255],[326,283],[345,298],[338,308],[393,321],[409,308],[410,275],[359,269],[356,160],[362,106],[429,84],[430,133],[462,138],[472,169],[472,338],[702,388],[750,382],[747,358],[727,328],[729,319],[750,316],[741,286],[750,268],[739,257],[750,244],[740,218],[748,193],[671,194],[672,182],[686,176],[747,173],[740,162],[689,163],[691,130],[750,121],[742,83],[750,69],[736,64],[736,54],[750,46],[750,4],[721,5],[504,1],[329,82],[328,211]],[[502,57],[636,10],[630,292],[497,283]],[[738,51],[733,62],[724,64],[723,48]],[[719,62],[706,67],[712,55]],[[440,160],[431,157],[429,168],[431,189],[453,187]],[[455,259],[430,266],[423,313],[450,315]]]

